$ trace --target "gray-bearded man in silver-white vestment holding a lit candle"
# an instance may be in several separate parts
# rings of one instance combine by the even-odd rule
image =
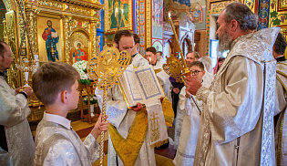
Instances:
[[[227,5],[217,23],[219,50],[230,53],[210,88],[187,77],[188,91],[207,105],[194,165],[275,165],[272,46],[280,28],[253,32],[257,16],[241,3]]]

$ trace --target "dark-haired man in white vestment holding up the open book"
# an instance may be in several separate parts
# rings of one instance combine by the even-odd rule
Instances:
[[[119,51],[127,50],[132,51],[134,47],[133,35],[128,30],[120,30],[116,34],[114,41]],[[137,60],[138,59],[138,60]],[[146,59],[143,58],[132,58],[133,64],[146,64]],[[133,65],[129,65],[129,68],[133,68]],[[136,66],[137,67],[137,66]],[[96,88],[95,94],[97,95],[97,100],[100,109],[103,105],[103,90]],[[128,109],[124,96],[119,88],[119,86],[114,86],[113,88],[108,88],[107,95],[107,115],[109,123],[118,130],[118,133],[127,139],[128,131],[130,130],[134,119],[136,117],[137,111],[142,109],[140,103],[138,103],[137,108]],[[110,132],[110,131],[109,131]],[[147,136],[144,138],[142,146],[138,151],[138,157],[134,163],[137,166],[153,166],[156,165],[154,149],[150,147],[149,140],[149,130],[147,131]],[[135,147],[130,147],[134,150]],[[111,137],[109,133],[108,137],[108,166],[123,166],[124,163],[119,158]]]

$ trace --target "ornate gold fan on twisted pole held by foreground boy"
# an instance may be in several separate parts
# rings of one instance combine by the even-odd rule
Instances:
[[[102,121],[105,121],[107,108],[107,91],[114,85],[118,85],[118,78],[126,70],[130,62],[128,51],[119,52],[117,47],[105,46],[98,56],[88,59],[87,73],[96,84],[95,87],[103,89]],[[104,131],[100,135],[99,165],[103,165],[104,159]]]

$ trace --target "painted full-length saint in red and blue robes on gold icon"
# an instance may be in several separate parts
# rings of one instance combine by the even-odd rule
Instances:
[[[46,41],[46,56],[48,57],[49,61],[55,62],[56,59],[58,60],[58,52],[56,50],[56,44],[59,41],[59,36],[52,36],[52,33],[56,33],[56,30],[52,27],[52,21],[46,21],[46,29],[42,34],[42,38]],[[53,50],[54,49],[54,50]],[[54,56],[52,55],[52,51],[55,51]]]

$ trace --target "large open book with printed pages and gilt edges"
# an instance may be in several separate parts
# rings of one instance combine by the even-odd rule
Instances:
[[[128,108],[165,96],[151,66],[128,67],[118,80]]]

